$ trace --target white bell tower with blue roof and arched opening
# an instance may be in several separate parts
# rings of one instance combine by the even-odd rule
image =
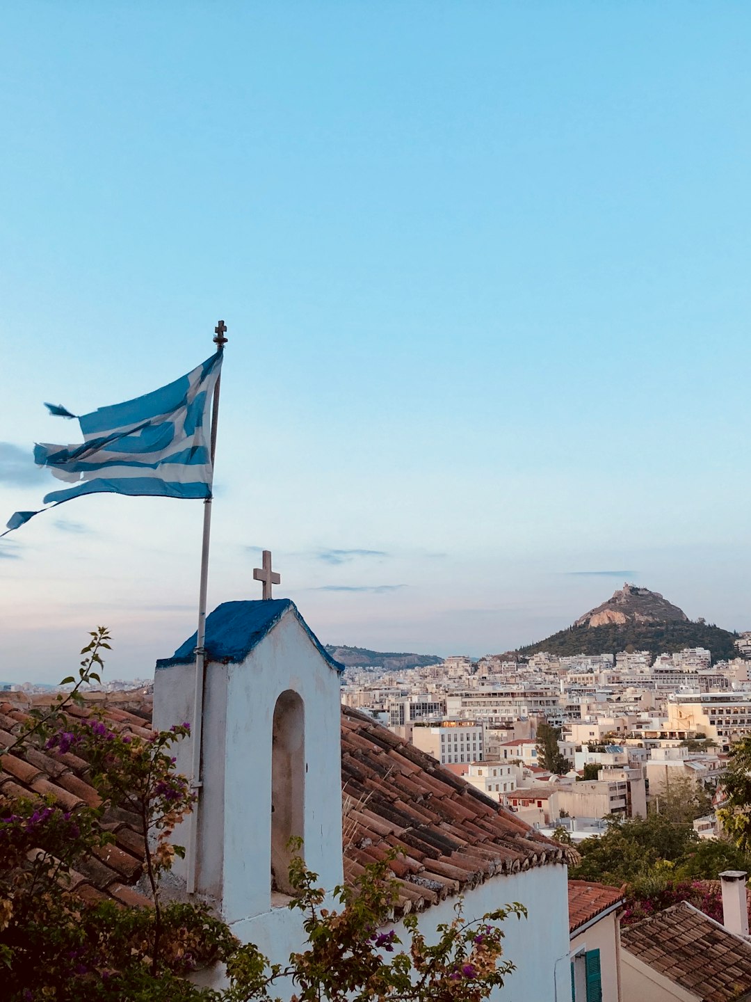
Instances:
[[[158,729],[193,718],[194,648],[195,636],[156,663]],[[206,620],[205,650],[196,896],[263,949],[284,924],[272,913],[290,914],[291,837],[302,838],[321,886],[342,881],[341,666],[289,599],[219,605]],[[191,741],[177,752],[188,777]],[[187,844],[187,824],[178,844]],[[173,872],[184,880],[185,864]]]

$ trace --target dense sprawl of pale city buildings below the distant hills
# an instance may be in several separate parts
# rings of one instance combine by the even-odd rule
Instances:
[[[546,834],[573,842],[606,819],[646,817],[648,800],[688,778],[714,794],[730,745],[751,734],[751,633],[713,663],[691,647],[615,654],[447,657],[400,672],[350,666],[341,702],[358,709]],[[557,728],[566,767],[541,761]],[[718,834],[714,814],[694,823]]]

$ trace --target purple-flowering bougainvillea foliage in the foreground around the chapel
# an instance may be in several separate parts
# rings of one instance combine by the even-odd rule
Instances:
[[[172,844],[172,831],[193,799],[169,752],[189,728],[183,723],[141,738],[111,729],[95,712],[87,719],[68,715],[71,702],[83,704],[81,686],[98,680],[99,652],[109,646],[104,628],[91,636],[73,690],[34,712],[0,752],[23,755],[24,748],[36,748],[54,757],[74,750],[90,764],[90,782],[102,798],[98,808],[65,812],[51,799],[0,794],[4,999],[270,1002],[278,983],[291,979],[299,1002],[482,1002],[504,984],[514,964],[503,957],[500,924],[512,915],[522,918],[524,908],[506,905],[468,921],[459,901],[454,920],[439,926],[435,946],[426,943],[416,916],[408,915],[407,944],[398,950],[396,932],[384,931],[398,900],[390,858],[365,868],[357,886],[336,888],[333,900],[340,907],[333,910],[323,907],[326,893],[296,844],[289,907],[304,916],[307,943],[286,965],[270,964],[252,944],[240,945],[205,906],[162,902],[159,878],[182,852]],[[138,815],[147,836],[145,871],[153,908],[86,904],[73,890],[76,866],[113,841],[102,828],[103,813],[123,805]],[[196,967],[217,962],[226,965],[225,991],[186,979]]]

